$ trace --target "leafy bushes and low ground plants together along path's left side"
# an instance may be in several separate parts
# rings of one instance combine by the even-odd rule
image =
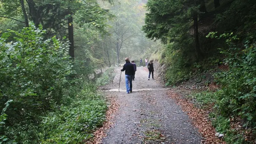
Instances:
[[[41,25],[30,24],[0,38],[3,143],[78,143],[104,121],[106,102],[80,78],[87,71],[75,73],[68,42],[44,36]]]

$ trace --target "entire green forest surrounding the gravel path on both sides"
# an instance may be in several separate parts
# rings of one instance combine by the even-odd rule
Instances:
[[[0,0],[0,144],[93,139],[110,105],[98,88],[126,57],[154,60],[166,87],[206,87],[187,99],[226,143],[256,143],[255,4]]]

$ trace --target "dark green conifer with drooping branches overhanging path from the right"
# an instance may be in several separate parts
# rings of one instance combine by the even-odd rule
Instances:
[[[148,38],[161,39],[163,43],[179,39],[193,25],[195,52],[199,56],[201,51],[198,38],[198,14],[201,12],[200,3],[202,0],[149,0],[143,31]]]

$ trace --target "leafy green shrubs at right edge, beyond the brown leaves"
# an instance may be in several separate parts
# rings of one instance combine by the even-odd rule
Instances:
[[[242,119],[244,127],[255,129],[256,122],[256,43],[253,37],[244,44],[233,34],[216,36],[216,32],[207,37],[225,38],[228,48],[220,49],[226,56],[223,63],[228,65],[227,71],[215,74],[216,81],[222,85],[217,92],[201,92],[190,97],[196,99],[199,106],[214,103],[214,111],[210,114],[212,124],[217,132],[225,133],[224,139],[228,144],[246,143],[243,133],[230,127],[230,118]],[[240,46],[239,46],[240,45]]]

